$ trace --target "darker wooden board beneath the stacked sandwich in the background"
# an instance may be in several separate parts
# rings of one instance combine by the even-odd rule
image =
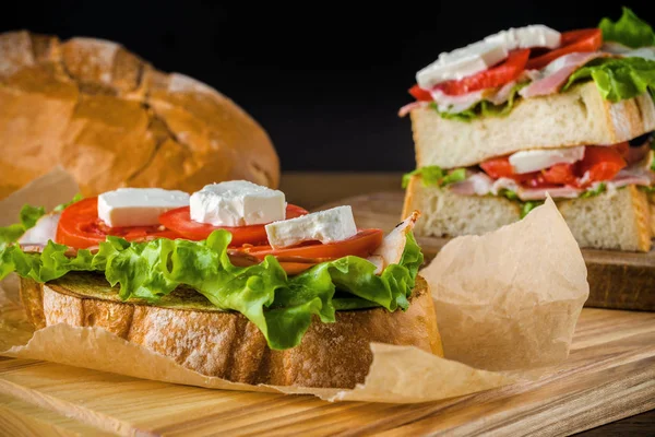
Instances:
[[[382,191],[355,196],[317,208],[353,206],[360,227],[391,229],[401,218],[404,191]],[[426,259],[432,259],[448,238],[417,238]],[[596,308],[655,311],[655,249],[648,253],[582,249],[587,265],[590,298],[586,306]]]

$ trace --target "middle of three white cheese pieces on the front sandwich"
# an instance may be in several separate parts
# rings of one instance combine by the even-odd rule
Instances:
[[[284,192],[248,180],[205,186],[191,194],[191,220],[214,226],[250,226],[284,220]]]

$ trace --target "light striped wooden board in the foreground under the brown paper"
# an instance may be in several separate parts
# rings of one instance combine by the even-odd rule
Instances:
[[[139,365],[139,363],[134,363]],[[0,435],[569,435],[655,409],[655,314],[585,308],[540,379],[422,404],[219,391],[0,357]]]

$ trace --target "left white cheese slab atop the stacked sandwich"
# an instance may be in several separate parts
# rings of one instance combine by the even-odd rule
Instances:
[[[499,44],[478,42],[449,54],[439,55],[439,59],[416,73],[416,82],[421,88],[449,80],[460,80],[487,70],[508,57],[508,50]]]

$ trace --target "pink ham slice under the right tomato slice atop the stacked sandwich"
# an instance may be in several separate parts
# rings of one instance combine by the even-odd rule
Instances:
[[[569,80],[569,76],[580,67],[593,59],[607,56],[610,55],[600,51],[574,52],[561,56],[546,66],[541,70],[540,78],[525,86],[519,94],[525,98],[555,94],[559,92],[562,85]]]

